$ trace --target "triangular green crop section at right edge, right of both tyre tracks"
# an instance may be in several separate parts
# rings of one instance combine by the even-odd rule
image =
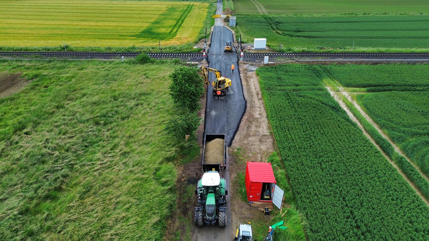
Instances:
[[[366,93],[357,101],[429,176],[429,92]]]

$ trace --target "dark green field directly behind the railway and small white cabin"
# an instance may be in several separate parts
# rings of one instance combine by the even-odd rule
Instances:
[[[245,42],[278,51],[429,51],[429,15],[239,16]]]

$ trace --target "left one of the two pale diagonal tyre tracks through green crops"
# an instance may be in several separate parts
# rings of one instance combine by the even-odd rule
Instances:
[[[356,125],[358,125],[358,127],[362,130],[363,134],[368,138],[368,140],[371,141],[371,143],[378,149],[379,152],[381,152],[381,154],[384,156],[384,158],[387,159],[387,161],[390,162],[390,164],[396,169],[396,171],[405,179],[405,181],[408,182],[408,184],[410,185],[411,188],[414,189],[414,191],[417,193],[418,196],[420,196],[420,199],[423,200],[423,202],[426,203],[426,205],[429,206],[429,201],[426,199],[425,196],[423,196],[423,194],[420,192],[420,190],[414,185],[414,183],[408,179],[408,177],[402,172],[402,170],[395,164],[395,162],[393,162],[392,159],[390,159],[389,156],[387,156],[387,154],[381,149],[381,147],[375,142],[375,140],[371,137],[371,135],[369,135],[369,133],[365,130],[365,128],[363,128],[363,125],[359,122],[358,119],[356,119],[356,117],[353,115],[353,113],[348,109],[347,105],[341,100],[340,96],[338,96],[338,92],[334,92],[330,87],[325,86],[326,89],[328,89],[329,94],[332,96],[332,98],[335,99],[335,101],[338,102],[338,104],[340,105],[340,107],[347,113],[347,115],[350,117],[350,119],[356,123]],[[340,92],[340,95],[342,95],[342,93]],[[346,97],[347,98],[347,97]],[[347,98],[349,99],[349,98]],[[349,99],[350,101],[350,99]],[[352,102],[353,103],[353,102]],[[354,103],[353,103],[354,105]],[[356,106],[355,106],[356,107]]]

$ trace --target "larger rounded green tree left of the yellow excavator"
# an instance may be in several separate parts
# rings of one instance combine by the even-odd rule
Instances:
[[[176,68],[169,76],[172,78],[169,89],[173,100],[190,112],[198,110],[199,98],[204,92],[203,80],[198,74],[198,68]]]

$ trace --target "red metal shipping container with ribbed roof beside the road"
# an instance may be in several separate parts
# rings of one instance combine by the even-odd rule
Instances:
[[[248,161],[245,184],[249,202],[272,202],[276,181],[271,163]]]

